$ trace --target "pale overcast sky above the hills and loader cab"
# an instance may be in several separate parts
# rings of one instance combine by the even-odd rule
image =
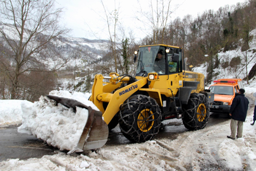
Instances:
[[[64,8],[63,23],[66,27],[71,28],[72,32],[69,36],[84,37],[87,39],[108,39],[107,22],[105,21],[105,13],[100,0],[56,0],[58,7]],[[142,8],[148,8],[150,0],[140,0]],[[225,5],[236,5],[244,0],[181,0],[172,1],[172,9],[179,5],[171,15],[171,20],[176,17],[183,17],[187,14],[196,17],[205,10],[213,9],[217,11]],[[136,19],[138,16],[137,0],[103,0],[105,8],[108,12],[119,7],[119,22],[126,30],[126,34],[132,33],[137,38],[143,38],[147,31],[141,30],[142,23]]]

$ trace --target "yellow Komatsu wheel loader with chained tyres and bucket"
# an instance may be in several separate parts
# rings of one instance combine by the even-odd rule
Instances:
[[[95,75],[89,100],[100,112],[72,99],[48,96],[74,110],[90,108],[77,149],[102,147],[108,130],[118,123],[123,135],[137,143],[152,140],[165,119],[181,118],[189,130],[203,129],[208,123],[214,93],[204,89],[203,74],[186,71],[182,48],[141,46],[134,60],[138,60],[135,77]]]

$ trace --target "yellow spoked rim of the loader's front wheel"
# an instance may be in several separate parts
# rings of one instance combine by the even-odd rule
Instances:
[[[150,109],[143,109],[138,116],[138,128],[142,132],[148,132],[154,125],[155,116]]]

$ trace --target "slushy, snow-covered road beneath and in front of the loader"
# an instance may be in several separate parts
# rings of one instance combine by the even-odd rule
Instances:
[[[236,140],[227,138],[230,120],[221,116],[211,116],[208,125],[198,131],[187,131],[181,119],[164,121],[163,131],[153,141],[140,144],[130,143],[115,128],[106,145],[81,155],[67,155],[33,136],[18,134],[17,126],[3,126],[0,170],[256,171],[256,125],[250,124],[252,119],[251,105],[243,124],[243,137]],[[3,148],[9,149],[1,151]]]

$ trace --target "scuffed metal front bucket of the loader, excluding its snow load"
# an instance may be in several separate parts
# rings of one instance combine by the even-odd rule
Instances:
[[[84,126],[82,135],[77,144],[77,148],[73,151],[69,151],[69,153],[101,148],[107,142],[108,126],[102,119],[101,111],[96,111],[92,109],[92,107],[84,105],[74,99],[53,95],[47,95],[46,97],[55,100],[57,103],[60,103],[68,108],[72,108],[74,111],[76,111],[76,106],[88,110],[87,123]]]

